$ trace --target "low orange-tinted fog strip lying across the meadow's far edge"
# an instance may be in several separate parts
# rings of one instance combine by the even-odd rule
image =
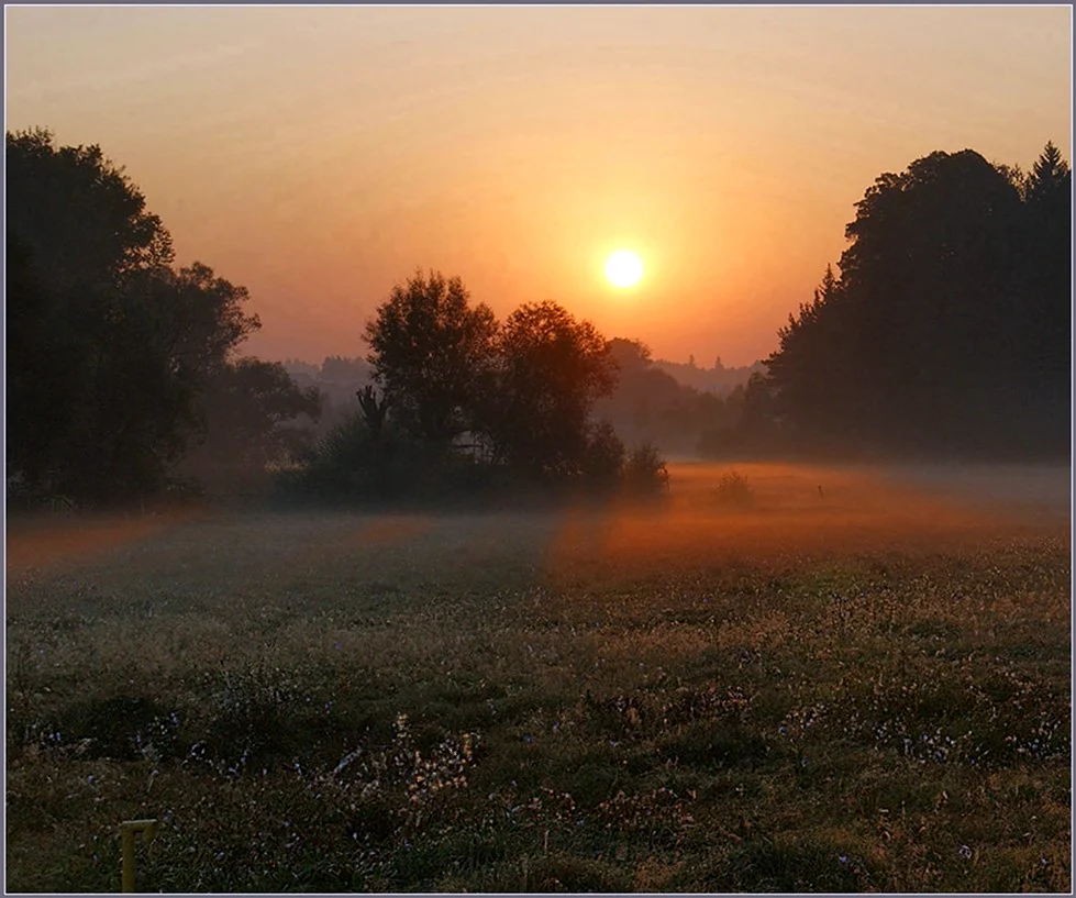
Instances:
[[[669,475],[669,495],[656,505],[488,513],[210,509],[14,519],[8,522],[7,569],[9,577],[18,577],[137,545],[153,554],[153,545],[184,532],[184,525],[212,521],[230,533],[234,529],[236,536],[243,531],[234,543],[242,554],[247,550],[240,545],[253,539],[247,519],[255,531],[266,528],[266,545],[252,551],[260,554],[276,537],[284,541],[280,565],[292,563],[295,552],[311,551],[353,554],[356,563],[368,554],[373,564],[375,555],[391,548],[406,554],[408,564],[421,558],[420,566],[431,574],[442,565],[456,566],[464,556],[546,569],[570,567],[570,562],[705,564],[744,553],[873,551],[901,542],[929,545],[951,535],[974,541],[998,528],[1047,528],[1062,535],[1069,526],[1071,472],[1065,465],[676,462]],[[351,536],[344,539],[345,533]],[[213,550],[218,556],[229,553],[231,537],[222,539]],[[187,546],[184,554],[204,551],[200,539],[180,542]]]

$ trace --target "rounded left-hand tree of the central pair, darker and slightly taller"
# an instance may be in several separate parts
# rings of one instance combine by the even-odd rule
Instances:
[[[393,414],[436,443],[472,428],[491,372],[497,320],[488,306],[469,300],[458,277],[418,271],[393,287],[366,325],[374,379]]]

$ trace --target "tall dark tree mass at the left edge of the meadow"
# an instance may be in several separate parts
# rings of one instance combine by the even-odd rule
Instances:
[[[176,269],[167,230],[100,147],[9,133],[5,160],[9,498],[18,485],[131,501],[175,483],[211,424],[245,435],[248,454],[280,445],[281,414],[318,413],[279,366],[235,364],[260,326],[246,290],[198,263]]]

